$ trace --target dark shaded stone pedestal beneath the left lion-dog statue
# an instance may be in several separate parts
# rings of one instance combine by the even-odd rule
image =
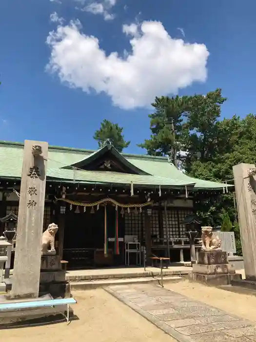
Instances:
[[[39,296],[70,297],[70,286],[61,270],[60,256],[41,256]]]

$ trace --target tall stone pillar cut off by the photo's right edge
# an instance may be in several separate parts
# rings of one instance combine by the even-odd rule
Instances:
[[[250,168],[255,165],[238,164],[233,166],[233,173],[245,278],[256,281],[256,180],[248,175]]]

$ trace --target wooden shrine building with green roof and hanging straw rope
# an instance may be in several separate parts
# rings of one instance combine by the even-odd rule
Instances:
[[[23,144],[0,142],[0,218],[19,214],[22,157]],[[226,191],[167,157],[119,153],[109,143],[97,151],[49,146],[43,230],[58,224],[57,253],[69,269],[143,265],[143,256],[147,264],[151,256],[189,261],[195,202]]]

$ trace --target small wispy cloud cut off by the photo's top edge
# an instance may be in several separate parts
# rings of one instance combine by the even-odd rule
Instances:
[[[76,0],[81,3],[85,3],[85,0]],[[103,16],[104,20],[113,20],[115,18],[114,14],[109,11],[113,6],[115,6],[117,0],[101,0],[101,1],[90,1],[85,7],[81,8],[81,11],[90,12],[93,14],[100,14]],[[88,1],[87,1],[88,2]]]

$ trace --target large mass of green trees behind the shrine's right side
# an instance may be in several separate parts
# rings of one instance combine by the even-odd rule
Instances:
[[[233,184],[234,165],[256,164],[256,115],[221,119],[225,101],[219,88],[206,95],[156,97],[151,136],[139,146],[151,155],[168,155],[190,176]],[[221,225],[223,211],[236,221],[233,192],[217,202],[199,200],[196,209],[206,225]]]

